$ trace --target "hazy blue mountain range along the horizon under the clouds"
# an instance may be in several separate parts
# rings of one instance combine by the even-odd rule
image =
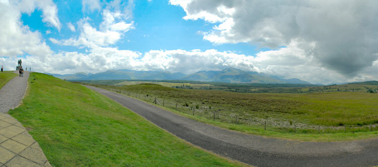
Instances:
[[[230,83],[259,83],[259,84],[310,84],[297,78],[283,79],[262,72],[243,71],[237,68],[225,68],[220,71],[198,71],[185,75],[180,72],[168,71],[136,71],[129,69],[107,70],[95,74],[84,72],[74,74],[46,73],[57,78],[67,80],[109,80],[109,79],[133,79],[133,80],[198,80]]]

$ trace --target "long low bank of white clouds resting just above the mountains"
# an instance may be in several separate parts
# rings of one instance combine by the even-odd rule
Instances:
[[[227,67],[246,71],[259,71],[283,78],[299,78],[312,83],[364,81],[378,79],[378,61],[365,68],[359,76],[347,77],[332,69],[319,67],[319,63],[298,50],[297,43],[286,48],[260,52],[256,57],[214,49],[201,50],[150,50],[140,53],[119,50],[112,47],[93,47],[88,53],[59,52],[48,57],[26,56],[23,62],[34,71],[50,73],[102,72],[108,69],[165,70],[170,72],[194,73],[200,70],[222,70]],[[276,60],[276,56],[281,58]],[[17,65],[16,57],[0,58],[6,69]],[[188,63],[190,62],[190,63]],[[185,64],[185,65],[182,65]],[[297,71],[293,73],[292,71]]]

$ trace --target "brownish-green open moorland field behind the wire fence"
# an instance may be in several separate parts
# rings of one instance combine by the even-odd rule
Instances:
[[[153,84],[111,87],[125,92],[200,105],[203,111],[221,110],[240,118],[297,121],[312,125],[361,125],[378,123],[378,94],[335,92],[312,94],[243,94],[210,90],[183,90]]]

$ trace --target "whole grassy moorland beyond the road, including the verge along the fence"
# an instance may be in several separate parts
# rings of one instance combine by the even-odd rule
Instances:
[[[149,102],[152,102],[154,97],[158,97],[160,107],[162,107],[162,99],[164,99],[164,108],[167,110],[200,122],[248,134],[303,141],[345,141],[378,137],[377,131],[375,131],[376,124],[373,126],[373,131],[369,131],[368,126],[365,126],[365,128],[359,129],[347,128],[347,133],[344,133],[343,126],[339,130],[324,127],[325,125],[338,127],[340,123],[352,125],[376,123],[378,120],[378,110],[375,105],[378,101],[377,94],[353,92],[241,94],[224,91],[172,89],[153,84],[121,87],[97,86],[126,95],[131,92],[132,97],[138,95],[141,100],[145,99],[145,95],[149,95],[146,98]],[[175,108],[176,102],[178,110]],[[193,111],[188,109],[197,108],[197,105],[199,109],[196,109],[196,114],[193,116]],[[213,111],[217,111],[216,121],[213,121]],[[234,125],[235,115],[238,115],[238,125]],[[260,121],[267,120],[267,130],[264,130],[261,123],[246,123],[249,118]],[[291,128],[275,125],[289,121],[293,123]],[[297,125],[297,133],[294,133],[294,124]],[[301,128],[300,126],[303,124],[312,126],[312,129]],[[323,125],[320,134],[318,134],[318,124]]]

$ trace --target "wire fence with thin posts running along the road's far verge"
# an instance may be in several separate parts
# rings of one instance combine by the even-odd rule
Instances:
[[[83,84],[83,83],[82,83]],[[90,84],[85,84],[90,85]],[[276,132],[292,132],[292,133],[354,133],[354,132],[367,132],[377,131],[378,124],[370,125],[342,125],[342,126],[325,126],[325,125],[309,125],[304,123],[293,123],[292,121],[277,121],[272,119],[264,119],[258,117],[250,117],[248,115],[225,112],[223,108],[217,108],[216,106],[210,107],[203,105],[202,103],[190,103],[185,100],[171,100],[164,97],[159,97],[149,93],[131,92],[122,89],[115,89],[112,86],[106,85],[92,85],[99,88],[107,89],[116,93],[123,94],[125,96],[137,98],[139,100],[154,103],[156,105],[163,106],[165,108],[184,113],[187,115],[193,115],[197,117],[203,117],[208,120],[219,121],[229,124],[254,126],[269,131]]]

